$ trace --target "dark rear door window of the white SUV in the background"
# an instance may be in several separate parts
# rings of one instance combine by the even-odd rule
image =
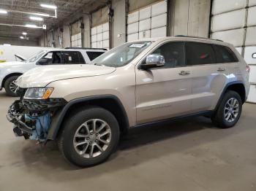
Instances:
[[[63,51],[62,52],[62,63],[67,64],[78,64],[86,63],[83,59],[83,55],[78,51]]]

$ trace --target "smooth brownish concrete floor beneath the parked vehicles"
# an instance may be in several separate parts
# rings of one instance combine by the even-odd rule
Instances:
[[[256,190],[256,105],[235,128],[204,117],[132,130],[101,165],[69,165],[50,142],[16,138],[5,114],[14,98],[0,92],[0,190]]]

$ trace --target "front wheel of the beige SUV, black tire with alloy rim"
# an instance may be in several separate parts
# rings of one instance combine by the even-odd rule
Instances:
[[[96,124],[95,132],[92,130],[94,122]],[[86,130],[86,125],[82,125],[83,123],[87,125],[89,130]],[[105,128],[99,130],[104,126],[103,124]],[[99,130],[98,135],[96,133],[97,130]],[[108,133],[109,131],[110,133]],[[94,134],[91,135],[89,132]],[[99,138],[100,135],[106,132],[107,134],[105,136]],[[59,149],[70,163],[80,167],[89,167],[103,163],[116,151],[119,134],[118,122],[112,113],[98,106],[89,106],[75,112],[64,122],[64,126],[58,137]],[[82,135],[83,137],[80,137]],[[108,145],[99,141],[103,139],[105,139],[104,141]],[[82,142],[84,144],[81,144]],[[81,145],[75,147],[75,144]],[[100,151],[96,144],[102,147],[102,151]],[[93,155],[91,155],[91,150],[95,152]]]

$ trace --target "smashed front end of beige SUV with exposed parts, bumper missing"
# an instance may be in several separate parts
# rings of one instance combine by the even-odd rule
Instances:
[[[14,124],[15,136],[44,143],[52,118],[65,104],[67,102],[63,98],[33,100],[24,99],[21,95],[20,100],[16,100],[8,109],[7,120]]]

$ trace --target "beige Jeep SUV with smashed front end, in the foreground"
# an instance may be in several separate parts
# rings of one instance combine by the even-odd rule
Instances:
[[[7,119],[15,135],[58,140],[64,157],[85,167],[105,161],[129,128],[197,115],[211,117],[219,128],[233,127],[248,79],[249,66],[231,44],[182,36],[145,39],[83,66],[28,71],[17,80],[21,98]]]

